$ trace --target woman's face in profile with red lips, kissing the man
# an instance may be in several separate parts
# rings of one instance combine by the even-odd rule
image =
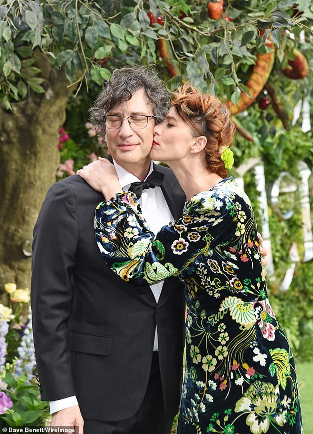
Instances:
[[[181,160],[190,154],[190,146],[195,143],[191,128],[171,107],[165,121],[153,129],[153,143],[150,158],[156,161],[170,162]]]

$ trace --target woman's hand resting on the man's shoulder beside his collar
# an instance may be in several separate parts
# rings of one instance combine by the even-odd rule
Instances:
[[[106,158],[98,157],[98,160],[84,166],[76,172],[96,191],[100,191],[109,200],[122,190],[117,177],[115,167]]]

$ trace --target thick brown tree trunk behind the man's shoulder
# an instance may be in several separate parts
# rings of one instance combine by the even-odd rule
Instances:
[[[58,130],[74,87],[43,53],[36,63],[45,93],[30,92],[14,103],[14,111],[0,108],[0,288],[15,282],[29,287],[33,227],[59,165]],[[49,248],[47,246],[47,248]]]

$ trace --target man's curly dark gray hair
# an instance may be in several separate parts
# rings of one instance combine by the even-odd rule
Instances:
[[[103,116],[143,88],[152,113],[161,122],[170,108],[170,93],[152,66],[141,65],[116,69],[111,79],[104,81],[103,90],[90,109],[90,120],[100,136],[105,136]]]

